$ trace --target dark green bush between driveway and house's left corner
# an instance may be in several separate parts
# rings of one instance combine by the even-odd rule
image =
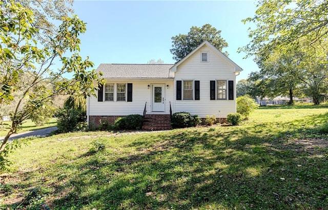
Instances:
[[[86,112],[70,108],[61,108],[56,113],[59,133],[74,131],[78,123],[85,122]]]

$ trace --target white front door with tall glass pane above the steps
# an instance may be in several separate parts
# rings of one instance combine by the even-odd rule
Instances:
[[[165,85],[152,85],[152,111],[165,111]]]

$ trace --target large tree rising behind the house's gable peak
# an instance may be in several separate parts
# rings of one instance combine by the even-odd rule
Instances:
[[[220,30],[217,30],[210,24],[205,24],[201,28],[193,26],[188,34],[179,34],[172,37],[172,49],[170,52],[173,54],[173,59],[177,62],[180,61],[206,40],[219,51],[228,47],[226,40],[221,37]],[[224,54],[228,55],[228,52],[224,52]]]

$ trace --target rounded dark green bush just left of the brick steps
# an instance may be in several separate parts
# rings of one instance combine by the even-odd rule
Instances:
[[[118,130],[140,130],[144,124],[144,118],[140,114],[130,114],[122,118],[117,118],[114,128]]]

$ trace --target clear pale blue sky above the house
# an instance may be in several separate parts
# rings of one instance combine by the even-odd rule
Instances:
[[[241,19],[254,16],[254,1],[75,1],[73,9],[87,23],[80,54],[89,56],[95,68],[159,58],[174,63],[171,37],[211,24],[229,44],[223,51],[244,70],[237,80],[258,69],[252,58],[237,53],[250,41],[250,25]]]

